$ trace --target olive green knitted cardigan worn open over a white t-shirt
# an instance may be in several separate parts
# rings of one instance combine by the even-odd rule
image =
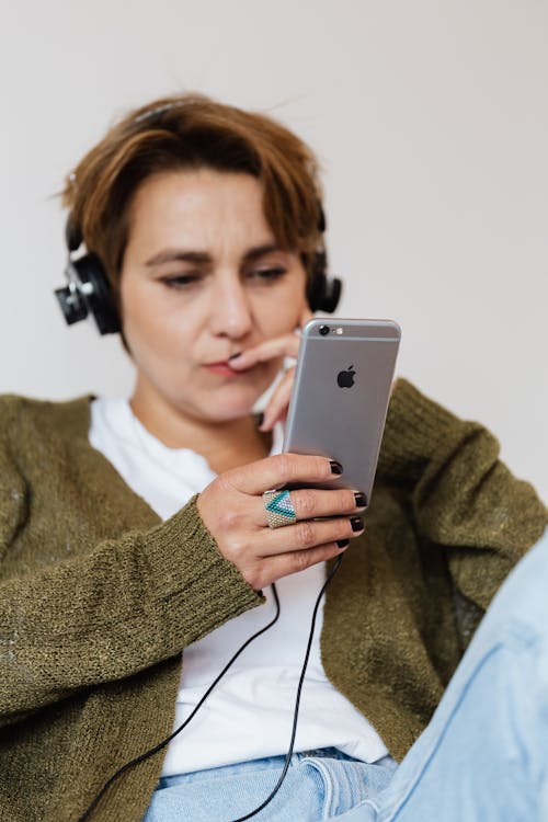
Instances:
[[[75,822],[171,732],[181,649],[263,602],[194,499],[161,523],[90,446],[89,401],[0,398],[2,822]],[[366,521],[327,592],[322,660],[399,758],[546,510],[484,429],[400,380]],[[161,760],[91,818],[138,822]]]

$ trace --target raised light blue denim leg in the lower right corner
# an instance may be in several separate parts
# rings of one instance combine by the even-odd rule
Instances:
[[[548,820],[548,533],[499,591],[388,788],[336,819]]]

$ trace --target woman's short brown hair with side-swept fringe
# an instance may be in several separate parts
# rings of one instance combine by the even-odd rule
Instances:
[[[311,272],[323,249],[318,162],[271,117],[202,94],[155,100],[116,123],[69,174],[61,194],[87,249],[100,258],[118,297],[128,213],[152,174],[197,168],[243,172],[263,185],[265,218],[282,248]]]

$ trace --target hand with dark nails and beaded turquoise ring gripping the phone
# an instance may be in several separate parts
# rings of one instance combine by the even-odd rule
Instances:
[[[365,498],[347,489],[292,491],[294,525],[270,528],[262,494],[288,482],[333,479],[341,466],[324,457],[278,454],[220,473],[198,495],[197,510],[217,546],[260,590],[344,551],[364,523]],[[330,517],[316,521],[316,517]]]

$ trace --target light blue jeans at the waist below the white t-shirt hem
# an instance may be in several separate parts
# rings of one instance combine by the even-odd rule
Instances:
[[[160,779],[142,822],[232,822],[259,807],[284,767],[284,756]],[[258,822],[320,822],[374,797],[396,763],[368,765],[336,749],[294,754],[279,791]]]

